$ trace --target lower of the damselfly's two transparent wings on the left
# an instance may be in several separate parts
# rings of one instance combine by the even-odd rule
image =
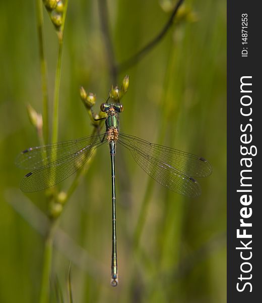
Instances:
[[[63,181],[64,179],[68,178],[72,174],[74,174],[90,158],[95,148],[106,142],[105,139],[103,140],[104,138],[103,135],[99,134],[92,137],[93,137],[92,141],[83,140],[82,144],[80,145],[77,144],[76,148],[73,148],[73,146],[70,144],[66,145],[67,153],[62,153],[62,151],[59,150],[60,151],[59,155],[60,156],[67,155],[67,156],[57,159],[56,161],[50,162],[26,174],[20,184],[21,190],[25,192],[42,190],[51,187]],[[87,142],[89,144],[85,145],[85,143]],[[61,143],[57,143],[57,144],[61,144]],[[52,144],[49,146],[55,146],[55,145]],[[70,146],[71,146],[71,150],[73,150],[73,153],[71,155],[68,155],[68,153],[70,152]],[[81,148],[79,148],[79,146],[81,146]],[[76,151],[76,149],[78,150]],[[48,158],[48,160],[50,160],[50,158]]]

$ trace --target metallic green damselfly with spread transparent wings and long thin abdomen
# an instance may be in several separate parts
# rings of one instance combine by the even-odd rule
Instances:
[[[200,195],[200,185],[193,177],[209,176],[212,167],[202,157],[119,132],[118,116],[123,111],[123,107],[119,99],[112,98],[112,102],[109,102],[109,99],[110,97],[100,107],[101,112],[106,113],[106,117],[101,118],[105,119],[105,131],[77,140],[30,147],[20,153],[17,165],[31,170],[21,181],[23,191],[43,190],[74,174],[86,163],[98,146],[109,143],[112,178],[111,285],[116,286],[118,284],[115,211],[116,143],[129,149],[134,160],[150,177],[168,189],[185,196]]]

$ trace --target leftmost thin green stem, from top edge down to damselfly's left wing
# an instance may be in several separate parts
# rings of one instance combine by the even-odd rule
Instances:
[[[47,73],[46,60],[44,53],[44,33],[43,33],[43,5],[42,0],[36,0],[37,30],[40,55],[40,67],[42,78],[42,94],[43,94],[43,132],[44,141],[48,142],[48,92],[47,92]]]

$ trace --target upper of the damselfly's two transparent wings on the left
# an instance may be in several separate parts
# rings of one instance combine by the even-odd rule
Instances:
[[[22,151],[17,159],[16,165],[23,169],[35,170],[53,162],[52,159],[61,159],[77,153],[83,147],[88,148],[103,140],[103,134],[91,135],[76,140],[58,142],[54,144],[30,147]]]

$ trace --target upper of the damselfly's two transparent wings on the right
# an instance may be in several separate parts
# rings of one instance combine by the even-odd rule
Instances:
[[[119,134],[119,138],[133,149],[140,150],[149,157],[169,164],[174,169],[190,177],[207,177],[212,173],[210,163],[204,158],[178,149],[153,144],[123,133]]]

